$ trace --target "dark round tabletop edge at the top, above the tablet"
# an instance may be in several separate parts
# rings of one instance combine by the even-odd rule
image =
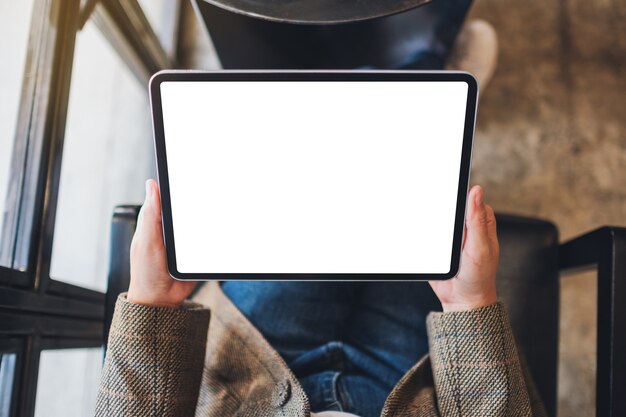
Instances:
[[[348,23],[400,13],[431,0],[204,0],[231,12],[283,23]]]

